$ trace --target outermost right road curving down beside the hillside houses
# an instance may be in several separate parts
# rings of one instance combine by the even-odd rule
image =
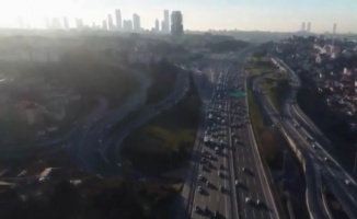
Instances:
[[[324,148],[331,148],[331,142],[315,127],[310,119],[299,110],[296,104],[296,93],[299,89],[300,80],[298,76],[283,61],[279,64],[289,72],[291,80],[295,79],[298,84],[293,87],[290,101],[285,104],[285,113],[292,120],[287,123],[296,123],[299,128],[295,128],[298,135],[304,139],[307,150],[310,152],[313,162],[321,170],[321,176],[332,189],[336,199],[341,203],[343,209],[349,218],[357,218],[357,189],[355,180],[345,171],[342,165],[331,155]],[[293,125],[292,125],[293,126]],[[319,138],[323,136],[324,140]],[[311,140],[307,140],[306,138]],[[347,184],[346,181],[349,183]]]

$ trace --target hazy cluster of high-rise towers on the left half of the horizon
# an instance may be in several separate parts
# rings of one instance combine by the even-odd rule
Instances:
[[[23,21],[20,20],[20,27],[24,28]],[[70,24],[68,18],[55,18],[45,20],[46,27],[48,30],[70,30]],[[131,19],[123,20],[122,12],[116,9],[113,14],[107,14],[107,16],[102,21],[102,25],[93,23],[92,25],[84,24],[82,19],[74,20],[76,30],[104,30],[111,32],[129,32],[129,33],[140,33],[145,31],[141,27],[140,15],[137,13],[133,14]],[[151,28],[152,32],[173,35],[182,35],[184,33],[183,27],[183,16],[181,11],[172,11],[171,15],[169,10],[163,11],[163,20],[160,22],[159,19],[154,21],[154,26]]]

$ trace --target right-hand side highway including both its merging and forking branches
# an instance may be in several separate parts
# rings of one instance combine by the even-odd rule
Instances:
[[[281,60],[275,60],[275,62],[285,69],[290,77],[291,91],[283,106],[284,118],[280,118],[279,113],[272,107],[265,95],[258,91],[255,91],[255,95],[273,123],[295,141],[306,161],[307,204],[311,216],[313,218],[331,218],[329,209],[325,208],[321,199],[322,185],[327,183],[345,212],[350,218],[357,218],[355,210],[357,209],[356,183],[316,140],[315,137],[321,136],[321,131],[313,131],[315,126],[311,122],[307,123],[308,119],[299,112],[296,105],[296,93],[300,85],[299,78]],[[346,180],[349,181],[349,185],[347,185]]]

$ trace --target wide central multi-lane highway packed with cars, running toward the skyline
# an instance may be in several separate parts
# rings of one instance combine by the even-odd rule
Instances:
[[[246,51],[242,53],[240,60],[245,60],[246,56]],[[198,131],[200,140],[195,146],[195,161],[200,165],[189,174],[191,177],[196,175],[193,197],[188,198],[191,218],[211,217],[216,211],[219,218],[279,218],[252,135],[246,99],[229,95],[229,92],[244,89],[242,66],[222,61],[212,64],[211,69],[215,92],[206,108],[201,127],[206,129]],[[210,140],[205,143],[204,138]],[[198,187],[203,192],[198,192]]]

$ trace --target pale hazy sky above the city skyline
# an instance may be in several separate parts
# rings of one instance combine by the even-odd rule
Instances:
[[[133,13],[141,26],[151,28],[163,19],[163,10],[180,10],[185,30],[298,31],[311,22],[311,31],[357,33],[357,0],[0,0],[0,26],[16,27],[19,18],[34,27],[45,27],[45,18],[101,24],[120,9],[123,19]]]

